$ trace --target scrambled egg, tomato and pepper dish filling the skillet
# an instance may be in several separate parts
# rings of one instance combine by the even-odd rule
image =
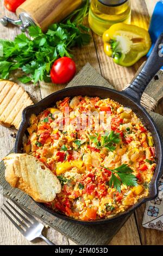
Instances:
[[[62,185],[49,208],[96,220],[148,196],[156,167],[153,138],[130,108],[111,99],[66,97],[33,114],[30,123],[24,152],[51,169]]]

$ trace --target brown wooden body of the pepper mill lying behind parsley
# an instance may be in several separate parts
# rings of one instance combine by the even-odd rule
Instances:
[[[17,8],[16,14],[27,13],[46,31],[49,25],[60,22],[80,4],[82,0],[27,0]]]

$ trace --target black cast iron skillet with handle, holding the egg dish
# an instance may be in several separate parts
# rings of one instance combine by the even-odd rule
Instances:
[[[156,150],[156,170],[153,175],[151,185],[149,187],[149,196],[146,198],[142,198],[129,208],[127,211],[120,213],[114,217],[102,220],[95,220],[95,221],[81,221],[75,220],[73,218],[67,217],[60,212],[52,211],[51,209],[47,208],[45,205],[41,203],[36,203],[39,205],[43,210],[49,212],[50,214],[61,218],[66,221],[70,221],[73,223],[79,224],[102,224],[108,223],[113,220],[117,220],[123,218],[127,214],[133,212],[137,207],[139,207],[142,203],[145,203],[149,200],[152,200],[158,196],[158,181],[161,174],[161,170],[163,168],[163,148],[162,148],[162,139],[158,128],[156,127],[153,119],[147,113],[146,109],[140,105],[140,99],[142,93],[146,89],[148,83],[152,80],[154,75],[160,70],[161,66],[163,65],[163,57],[159,56],[160,51],[160,44],[163,42],[163,34],[160,36],[158,41],[155,44],[154,50],[151,56],[148,58],[146,64],[143,66],[140,74],[136,77],[134,81],[131,82],[129,88],[124,90],[123,92],[117,92],[116,90],[108,89],[101,86],[79,86],[73,88],[66,88],[60,90],[59,92],[53,93],[47,96],[45,99],[41,100],[40,102],[36,103],[33,106],[29,106],[24,109],[22,117],[22,123],[20,129],[18,130],[16,143],[15,143],[15,153],[22,153],[22,143],[23,143],[23,136],[24,134],[28,134],[27,127],[29,126],[29,118],[31,114],[39,114],[41,111],[46,109],[47,107],[54,106],[55,102],[58,100],[63,99],[65,96],[77,96],[77,95],[87,95],[91,97],[99,96],[102,99],[106,97],[110,97],[111,99],[120,102],[122,105],[126,107],[130,107],[136,113],[136,115],[142,120],[143,124],[147,127],[149,131],[151,131],[155,150]]]

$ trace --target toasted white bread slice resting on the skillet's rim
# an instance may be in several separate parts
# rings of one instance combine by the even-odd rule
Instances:
[[[12,187],[29,194],[36,202],[52,202],[61,184],[51,170],[34,156],[10,154],[3,159],[5,179]]]

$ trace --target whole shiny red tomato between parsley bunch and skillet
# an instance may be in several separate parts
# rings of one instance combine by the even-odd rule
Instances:
[[[71,58],[62,57],[57,59],[51,69],[53,83],[68,83],[76,74],[76,64]]]

